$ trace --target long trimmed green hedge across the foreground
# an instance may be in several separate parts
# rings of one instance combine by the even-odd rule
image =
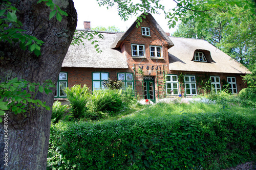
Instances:
[[[48,169],[221,169],[254,159],[256,118],[219,113],[51,126]]]

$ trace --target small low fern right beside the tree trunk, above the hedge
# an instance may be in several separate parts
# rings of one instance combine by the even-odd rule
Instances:
[[[52,105],[52,123],[57,123],[67,111],[68,105],[61,105],[59,101],[55,101]]]

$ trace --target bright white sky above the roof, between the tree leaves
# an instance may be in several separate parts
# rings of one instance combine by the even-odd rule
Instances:
[[[123,21],[118,15],[117,7],[109,8],[108,10],[105,6],[99,7],[96,0],[73,1],[78,14],[77,29],[83,29],[83,21],[91,21],[91,28],[97,26],[106,28],[109,26],[115,26],[121,31],[126,31],[126,29],[132,25],[137,17],[131,16],[129,20]],[[162,0],[161,4],[165,6],[166,10],[176,6],[176,4],[170,0]],[[173,33],[176,30],[176,28],[168,28],[168,19],[165,19],[163,12],[161,15],[153,14],[153,17],[165,32]]]

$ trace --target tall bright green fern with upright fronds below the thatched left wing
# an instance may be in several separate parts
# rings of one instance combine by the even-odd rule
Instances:
[[[67,93],[67,98],[70,101],[73,117],[83,117],[88,110],[86,105],[90,96],[89,87],[86,85],[83,85],[83,87],[80,85],[74,85],[71,88],[67,87],[65,92]]]

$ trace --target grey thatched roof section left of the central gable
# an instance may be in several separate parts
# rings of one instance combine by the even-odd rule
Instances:
[[[128,68],[120,50],[111,48],[116,38],[123,33],[101,32],[101,34],[104,36],[103,40],[98,36],[93,38],[93,41],[98,41],[101,53],[96,52],[95,44],[91,44],[92,41],[84,39],[84,46],[82,44],[70,45],[62,67]]]

